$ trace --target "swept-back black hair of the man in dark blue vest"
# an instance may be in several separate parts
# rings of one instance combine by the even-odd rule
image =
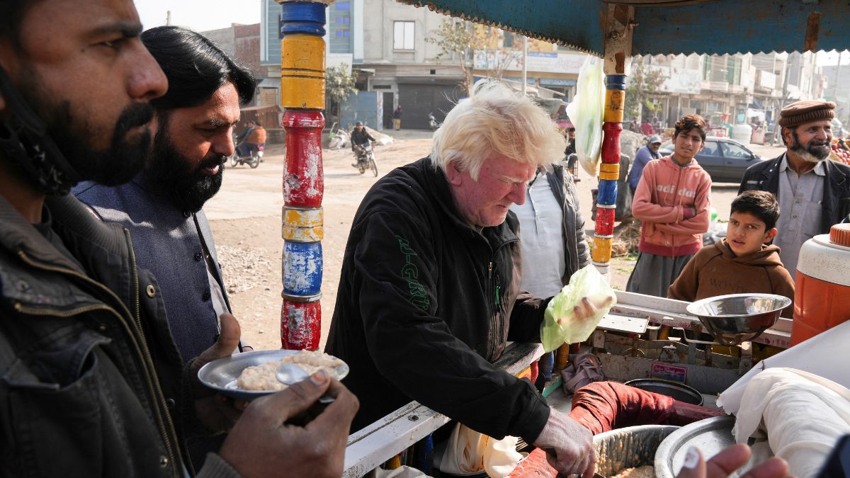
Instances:
[[[257,81],[251,71],[236,65],[200,33],[157,26],[144,31],[141,38],[168,78],[166,94],[150,102],[157,110],[201,105],[227,82],[236,86],[240,105],[253,99]]]

